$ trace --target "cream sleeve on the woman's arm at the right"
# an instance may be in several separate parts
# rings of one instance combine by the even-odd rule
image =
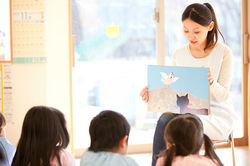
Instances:
[[[229,97],[232,80],[232,51],[227,48],[220,67],[218,80],[214,80],[210,87],[211,93],[218,101],[226,101]]]

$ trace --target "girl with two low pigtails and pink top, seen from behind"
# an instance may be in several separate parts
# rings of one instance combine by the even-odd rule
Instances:
[[[222,166],[209,137],[203,133],[201,121],[191,114],[178,116],[165,128],[167,149],[156,166]],[[199,155],[204,143],[205,155]]]

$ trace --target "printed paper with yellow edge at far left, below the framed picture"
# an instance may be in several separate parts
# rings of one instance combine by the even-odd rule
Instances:
[[[0,64],[1,76],[1,113],[4,114],[7,123],[13,124],[13,103],[12,103],[12,71],[10,64]]]

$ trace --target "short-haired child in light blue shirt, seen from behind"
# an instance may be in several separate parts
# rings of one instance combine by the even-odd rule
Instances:
[[[81,157],[80,166],[137,166],[126,156],[130,126],[119,113],[102,111],[89,126],[90,147]]]

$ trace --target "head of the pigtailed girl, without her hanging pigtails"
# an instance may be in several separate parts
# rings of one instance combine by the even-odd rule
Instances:
[[[203,143],[203,127],[196,117],[185,114],[169,122],[165,128],[164,139],[167,148],[176,147],[177,156],[197,154]]]

